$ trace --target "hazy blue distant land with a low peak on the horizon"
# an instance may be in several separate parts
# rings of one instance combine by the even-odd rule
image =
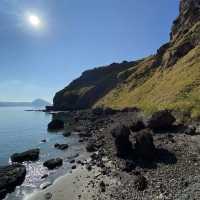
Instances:
[[[43,99],[36,99],[32,102],[1,102],[0,107],[45,107],[51,104]]]

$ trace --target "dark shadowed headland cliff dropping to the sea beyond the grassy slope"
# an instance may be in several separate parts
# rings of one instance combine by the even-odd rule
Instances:
[[[90,108],[120,82],[119,73],[138,61],[99,67],[83,72],[80,78],[74,80],[54,97],[54,108],[58,110]]]

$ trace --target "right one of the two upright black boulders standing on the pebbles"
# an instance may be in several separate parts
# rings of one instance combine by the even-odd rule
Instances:
[[[135,136],[135,151],[139,158],[152,160],[155,158],[153,136],[148,129],[142,130]]]

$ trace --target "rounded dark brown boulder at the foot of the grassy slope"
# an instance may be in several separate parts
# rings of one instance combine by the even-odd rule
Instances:
[[[154,130],[165,130],[173,126],[175,117],[169,110],[155,112],[148,120],[148,127]]]

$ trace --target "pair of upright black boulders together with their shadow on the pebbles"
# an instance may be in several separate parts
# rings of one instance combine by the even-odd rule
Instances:
[[[158,163],[175,164],[175,154],[167,149],[156,148],[152,133],[149,129],[139,131],[135,135],[135,144],[129,140],[130,131],[124,125],[112,130],[115,138],[117,156],[126,161],[125,171],[131,171],[137,166],[155,169]]]

